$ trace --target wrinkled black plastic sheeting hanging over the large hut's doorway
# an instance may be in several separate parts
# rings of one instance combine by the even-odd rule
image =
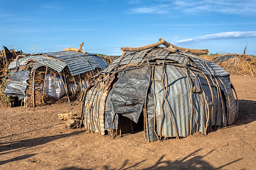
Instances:
[[[105,105],[105,130],[118,129],[118,114],[138,122],[143,111],[150,66],[121,73]]]

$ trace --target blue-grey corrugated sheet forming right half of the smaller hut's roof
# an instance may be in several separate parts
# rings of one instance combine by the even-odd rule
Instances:
[[[67,51],[43,54],[56,57],[65,62],[73,76],[92,71],[96,68],[105,69],[108,66],[108,63],[103,58],[90,53]]]

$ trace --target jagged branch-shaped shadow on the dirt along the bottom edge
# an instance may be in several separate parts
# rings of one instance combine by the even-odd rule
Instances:
[[[174,162],[172,162],[171,160],[163,160],[164,156],[166,155],[162,155],[154,165],[152,165],[151,167],[148,168],[143,168],[146,170],[153,170],[153,169],[221,169],[224,168],[230,164],[236,163],[240,160],[242,160],[242,158],[234,160],[233,162],[229,162],[226,163],[224,165],[221,165],[220,167],[214,168],[212,165],[210,165],[209,163],[205,162],[203,160],[203,158],[207,155],[209,155],[211,152],[213,152],[214,150],[209,151],[207,154],[205,154],[204,156],[199,156],[197,155],[197,152],[199,152],[200,150],[202,150],[202,148],[192,152],[191,154],[185,156],[184,158],[180,158],[175,160]],[[146,160],[142,160],[141,162],[137,162],[137,163],[133,163],[133,165],[129,165],[129,160],[125,160],[125,162],[123,162],[123,164],[121,165],[121,167],[119,168],[110,168],[109,165],[105,165],[104,167],[102,167],[102,169],[105,170],[115,170],[115,169],[139,169],[142,167],[138,167],[139,164],[144,163]],[[60,170],[69,170],[69,169],[79,169],[79,170],[83,170],[83,168],[78,168],[78,167],[67,167],[67,168],[62,168]],[[92,168],[94,169],[94,168]]]

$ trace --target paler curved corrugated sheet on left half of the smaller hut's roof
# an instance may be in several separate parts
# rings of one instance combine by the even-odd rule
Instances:
[[[51,57],[43,57],[42,55],[33,55],[33,56],[20,58],[18,60],[11,62],[8,69],[11,70],[11,69],[14,69],[15,67],[18,67],[19,65],[24,65],[24,63],[30,59],[34,59],[36,62],[39,62],[44,66],[48,66],[51,69],[56,70],[58,72],[61,72],[66,66],[66,63],[59,61],[59,59],[55,59]]]

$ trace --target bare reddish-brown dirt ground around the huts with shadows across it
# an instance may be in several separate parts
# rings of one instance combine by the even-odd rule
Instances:
[[[80,103],[0,111],[0,169],[255,169],[256,77],[231,75],[239,117],[208,135],[147,143],[143,131],[110,139],[69,129],[59,113]]]

